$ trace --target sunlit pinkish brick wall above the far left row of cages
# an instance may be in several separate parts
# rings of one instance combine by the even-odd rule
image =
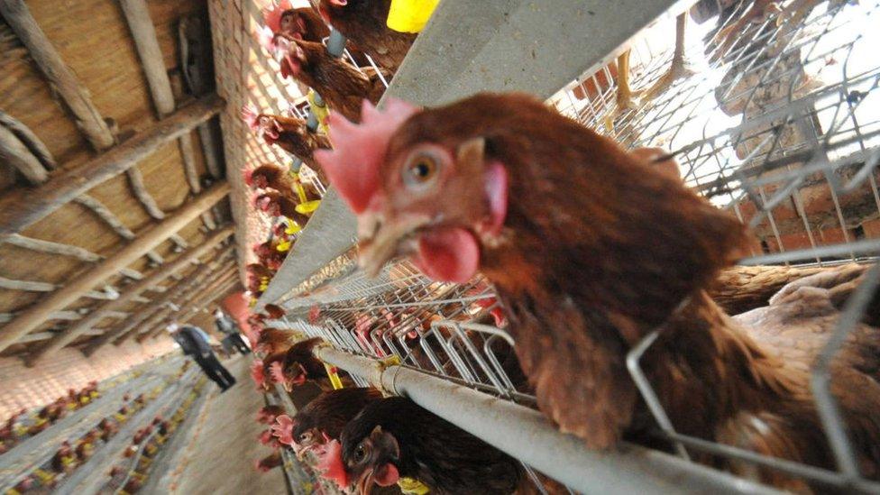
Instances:
[[[162,337],[143,344],[132,339],[119,347],[105,345],[88,358],[68,347],[35,368],[25,367],[19,358],[0,358],[0,421],[22,408],[40,407],[69,389],[81,389],[91,380],[106,380],[175,349],[170,338]]]

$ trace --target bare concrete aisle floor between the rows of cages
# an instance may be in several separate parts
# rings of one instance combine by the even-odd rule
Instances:
[[[224,394],[217,393],[216,385],[209,383],[210,396],[201,414],[194,418],[191,440],[180,455],[180,462],[172,468],[167,492],[180,495],[287,493],[280,468],[261,473],[253,467],[254,460],[271,454],[271,449],[257,440],[265,426],[258,424],[254,417],[263,406],[263,399],[254,390],[250,362],[250,356],[237,356],[224,362],[238,380]]]

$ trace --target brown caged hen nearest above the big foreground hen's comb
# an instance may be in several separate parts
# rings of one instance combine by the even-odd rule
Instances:
[[[374,69],[358,70],[330,56],[321,43],[311,41],[292,41],[284,50],[281,77],[289,76],[314,89],[331,110],[353,121],[361,119],[362,100],[378,103],[385,92]],[[387,80],[390,75],[385,76]]]

